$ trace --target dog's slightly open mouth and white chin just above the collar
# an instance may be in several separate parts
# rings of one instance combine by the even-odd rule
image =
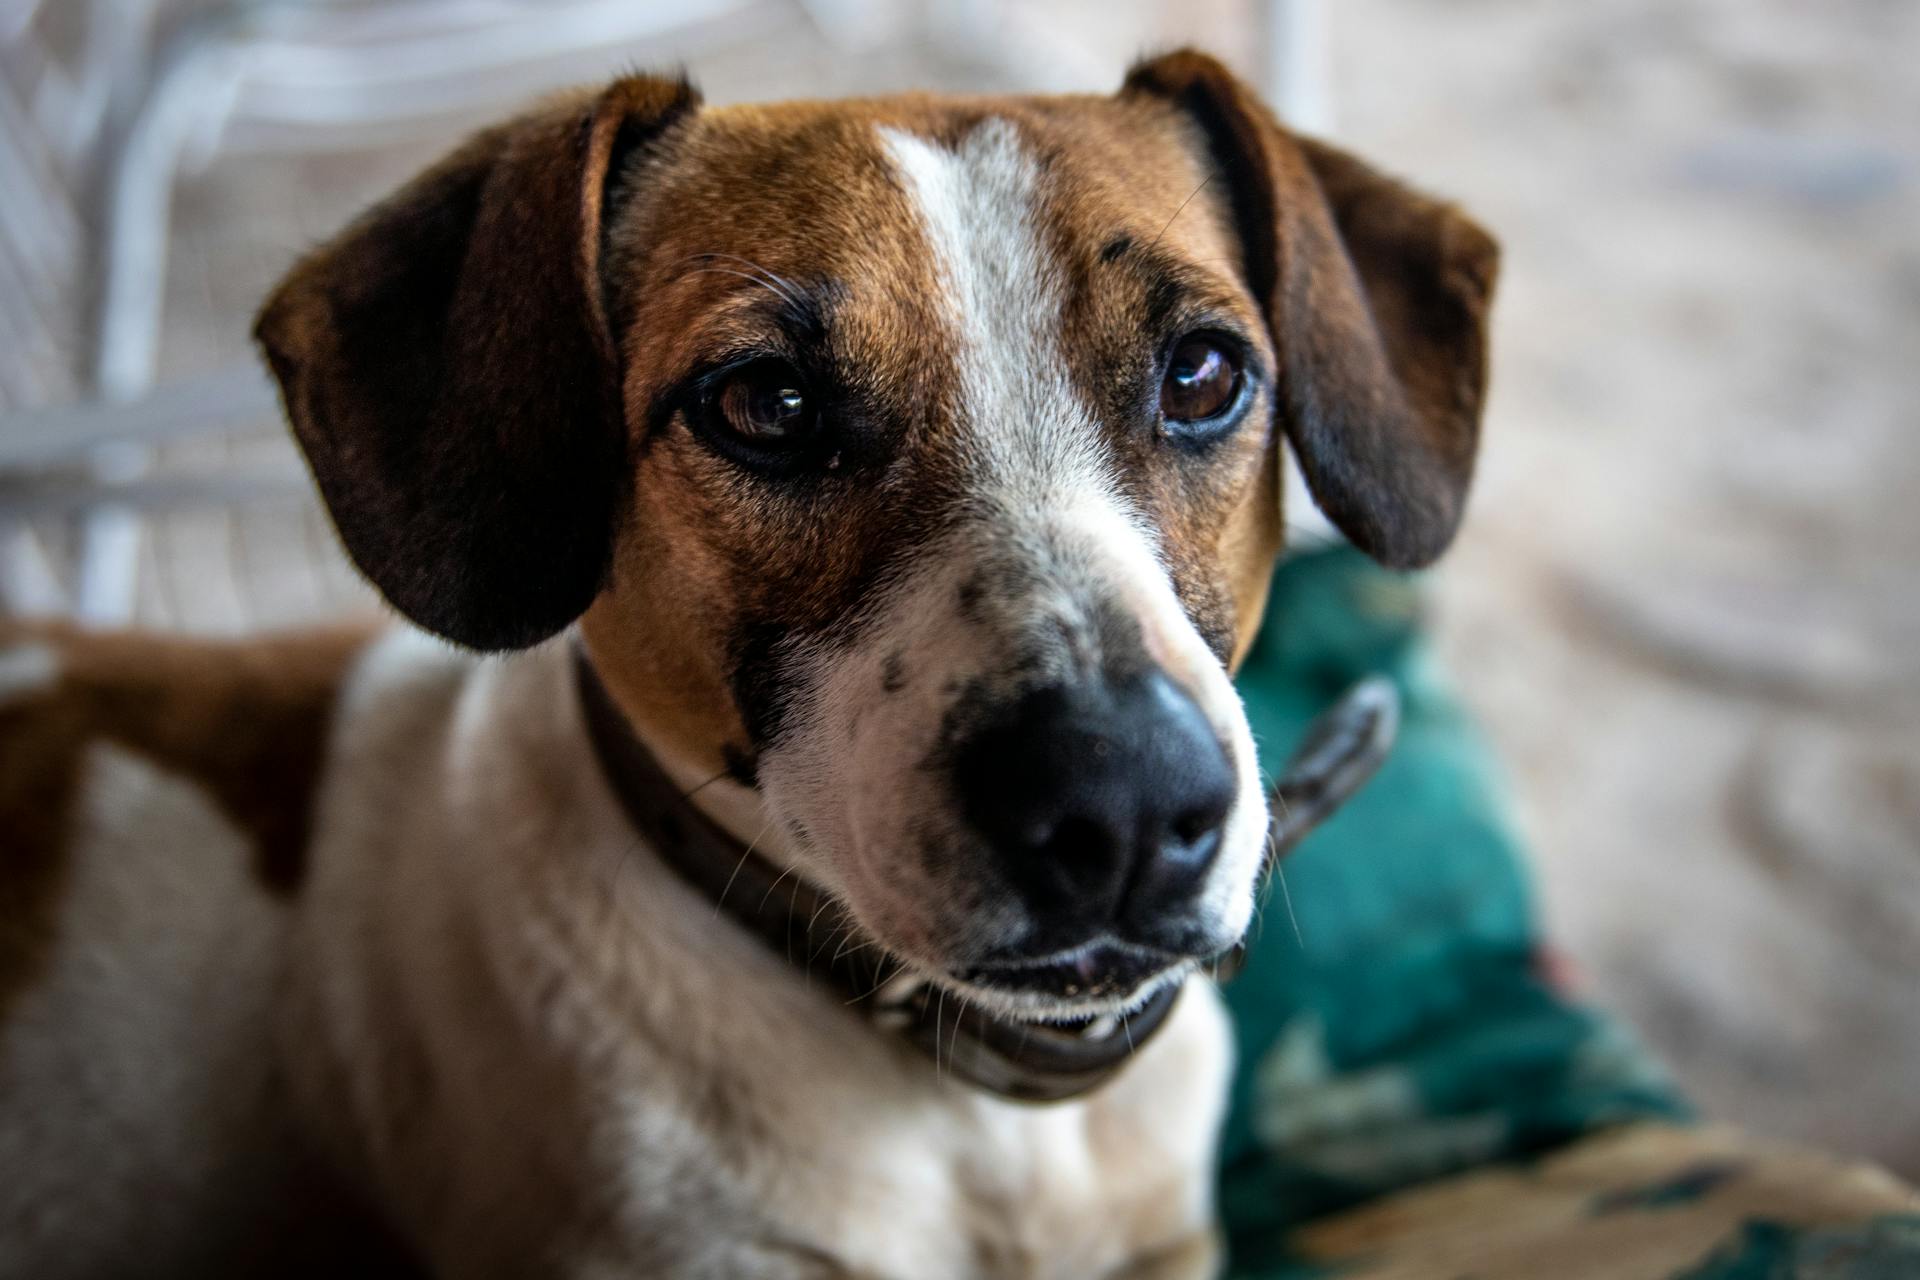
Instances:
[[[1085,1023],[1125,1017],[1198,961],[1116,940],[1094,940],[1037,958],[935,967],[937,984],[998,1017]]]

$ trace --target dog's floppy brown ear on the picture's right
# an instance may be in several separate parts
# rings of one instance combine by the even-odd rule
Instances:
[[[1121,92],[1167,100],[1206,138],[1313,499],[1382,564],[1428,564],[1473,480],[1500,248],[1452,205],[1292,134],[1206,54],[1144,61]]]

